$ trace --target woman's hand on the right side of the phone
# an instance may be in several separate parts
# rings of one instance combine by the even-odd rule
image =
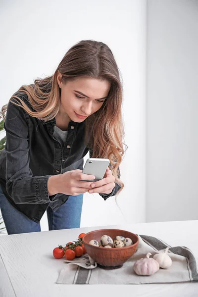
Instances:
[[[93,189],[88,191],[90,194],[110,194],[115,187],[115,177],[112,175],[111,170],[107,168],[104,178],[98,182],[92,183],[91,187]]]

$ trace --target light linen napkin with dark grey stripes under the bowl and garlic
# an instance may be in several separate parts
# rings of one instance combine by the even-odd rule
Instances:
[[[155,237],[138,235],[139,247],[135,254],[122,267],[105,270],[84,254],[72,261],[66,260],[65,267],[60,271],[56,284],[151,284],[198,281],[197,262],[193,252],[187,247],[170,247]],[[169,247],[168,255],[172,266],[159,269],[151,276],[137,275],[133,270],[134,263],[146,256]],[[150,257],[152,257],[150,256]]]

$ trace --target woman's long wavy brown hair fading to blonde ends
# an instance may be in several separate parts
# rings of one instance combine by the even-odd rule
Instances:
[[[85,40],[69,49],[59,63],[55,73],[44,79],[35,79],[33,85],[23,85],[15,93],[26,94],[30,103],[13,95],[12,103],[21,106],[30,116],[41,120],[50,120],[56,116],[60,106],[60,88],[57,83],[58,71],[62,82],[66,83],[78,77],[92,77],[107,80],[111,87],[107,99],[101,108],[85,120],[85,139],[95,158],[108,158],[115,181],[124,187],[119,179],[118,166],[124,155],[123,121],[121,114],[122,84],[120,73],[112,51],[102,42]],[[1,109],[5,119],[7,105]]]

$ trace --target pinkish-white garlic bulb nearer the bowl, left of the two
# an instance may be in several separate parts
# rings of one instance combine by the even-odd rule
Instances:
[[[133,266],[133,269],[138,275],[152,275],[159,270],[159,263],[153,259],[149,258],[150,252],[146,255],[146,258],[141,258],[137,260]]]

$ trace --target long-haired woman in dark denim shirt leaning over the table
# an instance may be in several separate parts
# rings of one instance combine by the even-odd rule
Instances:
[[[22,86],[2,107],[6,146],[0,155],[0,208],[8,234],[78,228],[83,194],[106,200],[123,188],[122,87],[111,50],[81,41],[54,75]],[[5,118],[6,112],[6,118]],[[108,158],[102,180],[82,174],[83,157]]]

